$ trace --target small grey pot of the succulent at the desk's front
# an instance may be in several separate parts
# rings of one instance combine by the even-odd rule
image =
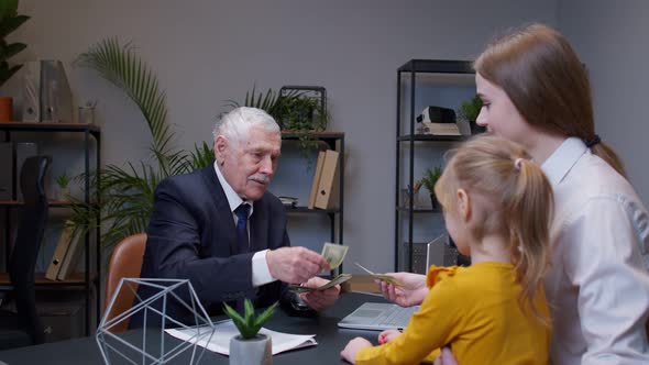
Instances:
[[[240,334],[230,339],[230,365],[272,365],[271,336],[257,334],[243,339]]]

